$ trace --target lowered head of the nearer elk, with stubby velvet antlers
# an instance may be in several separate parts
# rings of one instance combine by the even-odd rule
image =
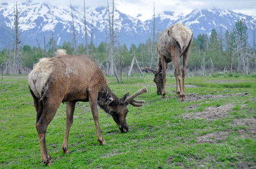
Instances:
[[[105,109],[106,112],[112,115],[121,132],[127,132],[129,130],[126,123],[126,115],[129,112],[127,109],[127,105],[130,104],[137,107],[142,106],[145,101],[135,100],[134,98],[145,92],[147,92],[147,88],[142,87],[139,91],[135,92],[135,94],[131,96],[129,96],[129,92],[127,92],[127,94],[125,94],[121,99],[114,95],[109,97],[108,101],[105,104],[108,110],[106,110],[105,108],[103,109]]]

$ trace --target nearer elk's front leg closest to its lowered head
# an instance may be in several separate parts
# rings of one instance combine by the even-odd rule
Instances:
[[[91,106],[92,110],[92,116],[95,122],[95,127],[96,127],[96,132],[97,132],[97,137],[98,141],[100,142],[100,145],[106,144],[106,141],[104,140],[101,130],[100,130],[100,123],[99,123],[99,113],[97,109],[97,91],[95,89],[90,89],[89,90],[89,104]]]

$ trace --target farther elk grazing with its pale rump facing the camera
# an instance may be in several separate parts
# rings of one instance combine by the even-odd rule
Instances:
[[[185,99],[185,78],[186,66],[189,61],[190,47],[193,41],[193,33],[184,24],[176,23],[163,30],[159,35],[157,43],[157,52],[159,54],[157,61],[157,70],[144,67],[155,75],[154,82],[157,86],[157,94],[165,97],[166,71],[169,63],[173,61],[174,75],[176,77],[176,94],[181,100]],[[183,69],[180,68],[180,57],[183,55]],[[181,83],[182,72],[182,83]]]

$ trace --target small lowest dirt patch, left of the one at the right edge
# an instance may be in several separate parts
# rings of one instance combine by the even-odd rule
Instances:
[[[197,137],[196,143],[218,143],[225,140],[228,136],[228,131],[212,132],[203,136]]]

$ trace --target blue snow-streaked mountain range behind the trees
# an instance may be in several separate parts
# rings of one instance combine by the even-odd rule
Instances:
[[[0,48],[12,45],[14,42],[14,5],[0,4]],[[37,46],[46,43],[54,35],[58,45],[63,42],[72,42],[72,17],[68,6],[54,6],[46,3],[18,4],[19,33],[22,45]],[[76,39],[78,44],[84,43],[84,11],[82,7],[73,7]],[[142,21],[117,9],[114,11],[114,30],[117,42],[138,45],[152,37],[153,20]],[[91,41],[91,29],[93,27],[93,43],[97,46],[100,42],[108,41],[109,21],[106,7],[86,9],[88,42]],[[171,11],[163,11],[156,14],[155,25],[159,33],[168,26],[181,22],[193,30],[194,36],[198,34],[210,34],[212,29],[217,32],[232,30],[237,20],[245,21],[248,26],[249,42],[253,39],[253,25],[256,21],[253,16],[237,14],[227,10],[195,10],[189,15],[178,14]],[[92,26],[93,25],[93,26]]]

